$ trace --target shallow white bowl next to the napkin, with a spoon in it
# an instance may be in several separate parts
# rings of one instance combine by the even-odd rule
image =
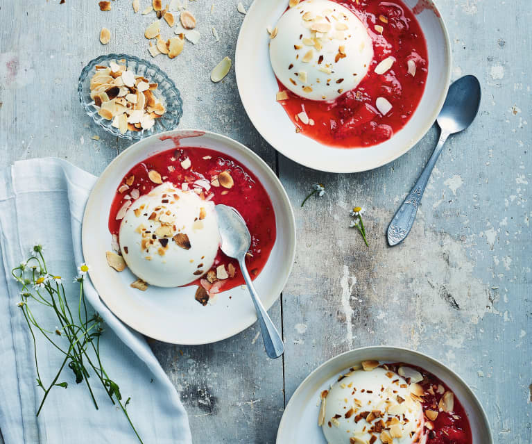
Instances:
[[[105,261],[105,252],[111,249],[108,217],[114,192],[133,166],[174,147],[173,140],[161,140],[165,136],[181,138],[182,146],[205,147],[232,156],[251,170],[268,192],[275,211],[277,238],[264,270],[254,281],[266,309],[280,296],[292,268],[293,211],[279,179],[257,154],[235,140],[208,131],[175,130],[140,140],[117,156],[96,182],[85,208],[82,241],[83,256],[91,266],[90,279],[103,302],[124,323],[151,338],[183,345],[213,343],[239,333],[257,320],[247,288],[225,291],[218,295],[216,304],[202,306],[194,299],[196,286],[150,286],[142,292],[130,288],[136,277],[128,269],[115,272]]]

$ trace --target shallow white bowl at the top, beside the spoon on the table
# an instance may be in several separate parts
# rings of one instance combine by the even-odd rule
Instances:
[[[429,0],[430,1],[430,0]],[[405,0],[410,8],[418,0]],[[421,102],[401,131],[390,140],[367,148],[334,148],[295,133],[295,126],[275,101],[279,90],[268,55],[269,36],[288,0],[255,0],[244,19],[237,51],[235,71],[242,104],[262,137],[293,161],[327,172],[359,172],[393,161],[406,153],[434,124],[451,79],[451,45],[438,10],[427,8],[416,15],[427,40],[429,74]]]

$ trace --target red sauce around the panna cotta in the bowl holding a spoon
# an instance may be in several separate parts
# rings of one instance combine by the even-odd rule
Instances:
[[[181,162],[185,161],[186,158],[191,161],[191,167],[187,170],[181,166]],[[169,167],[173,167],[174,171],[169,171]],[[194,189],[194,182],[197,180],[204,179],[211,182],[213,176],[217,176],[223,171],[228,171],[231,174],[234,181],[232,188],[226,189],[221,186],[212,186],[210,190],[205,190],[203,194],[200,194],[200,197],[212,199],[214,204],[225,204],[237,208],[237,211],[242,215],[251,234],[251,246],[249,254],[246,256],[246,264],[248,265],[248,270],[250,270],[251,277],[255,279],[264,268],[264,265],[266,265],[266,261],[268,261],[276,235],[273,206],[270,197],[268,197],[266,190],[264,190],[257,177],[246,167],[235,161],[234,158],[212,149],[176,147],[175,149],[162,151],[135,165],[123,177],[120,185],[125,183],[130,176],[135,176],[135,180],[128,191],[121,193],[117,189],[115,192],[109,215],[109,231],[112,234],[119,235],[121,220],[115,220],[115,217],[121,206],[126,202],[123,197],[128,195],[128,192],[134,188],[137,188],[142,196],[159,185],[149,179],[148,171],[150,170],[159,172],[163,181],[169,181],[177,187],[187,182],[190,190]],[[212,197],[209,197],[211,194]],[[236,269],[234,277],[217,281],[218,283],[215,283],[216,293],[230,290],[244,283],[238,262],[235,259],[228,258],[221,252],[221,249],[218,249],[214,268],[217,265],[224,264],[225,269],[228,270],[230,263]],[[202,279],[202,281],[205,280]],[[194,284],[199,283],[200,279],[194,282]]]

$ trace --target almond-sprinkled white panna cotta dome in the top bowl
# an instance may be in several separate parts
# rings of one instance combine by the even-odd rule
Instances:
[[[357,88],[373,59],[366,26],[330,0],[305,0],[280,17],[270,41],[277,79],[311,100],[333,100]]]

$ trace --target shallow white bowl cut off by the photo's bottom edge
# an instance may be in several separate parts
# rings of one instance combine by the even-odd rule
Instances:
[[[277,431],[277,444],[327,444],[318,427],[320,393],[328,390],[347,369],[362,361],[402,362],[431,372],[454,392],[462,404],[471,426],[473,444],[492,444],[493,439],[486,412],[479,400],[456,375],[434,358],[400,347],[363,347],[339,354],[320,365],[293,393]]]

